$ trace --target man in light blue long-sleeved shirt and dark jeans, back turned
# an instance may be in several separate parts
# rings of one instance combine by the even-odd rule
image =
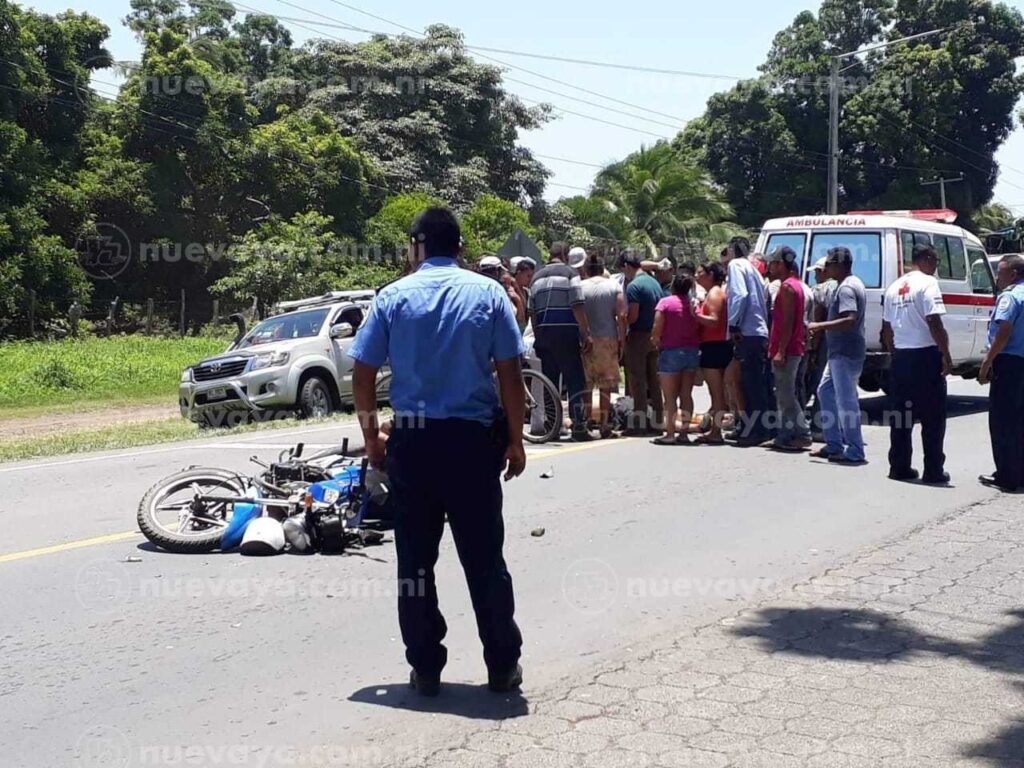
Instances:
[[[775,411],[768,362],[768,296],[761,273],[748,258],[750,252],[746,238],[733,238],[725,257],[729,332],[740,366],[743,400],[741,423],[732,437],[740,446],[761,445],[773,437],[768,415]]]

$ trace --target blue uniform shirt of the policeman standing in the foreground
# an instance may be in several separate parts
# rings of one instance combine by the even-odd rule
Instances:
[[[493,361],[524,351],[501,285],[455,259],[432,258],[377,295],[348,355],[375,368],[390,361],[399,417],[492,424],[499,407]]]

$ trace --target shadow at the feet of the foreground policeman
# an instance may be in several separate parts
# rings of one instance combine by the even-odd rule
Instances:
[[[371,685],[355,691],[348,700],[469,720],[510,720],[529,712],[521,693],[492,693],[486,686],[463,683],[442,683],[436,697],[421,696],[406,683]]]

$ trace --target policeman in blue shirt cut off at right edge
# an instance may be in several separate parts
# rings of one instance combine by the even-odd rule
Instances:
[[[979,479],[1014,493],[1024,489],[1024,257],[1005,257],[996,284],[1001,293],[988,331],[988,354],[978,375],[982,384],[992,384],[988,431],[995,474]]]

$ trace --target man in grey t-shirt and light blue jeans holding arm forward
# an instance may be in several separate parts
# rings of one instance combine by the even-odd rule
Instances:
[[[828,339],[828,362],[818,386],[825,446],[812,456],[833,464],[859,466],[867,463],[857,393],[867,353],[864,340],[867,292],[860,278],[853,273],[853,253],[849,248],[840,246],[829,250],[825,268],[838,288],[827,319],[812,323],[809,329],[813,334],[826,334]]]

